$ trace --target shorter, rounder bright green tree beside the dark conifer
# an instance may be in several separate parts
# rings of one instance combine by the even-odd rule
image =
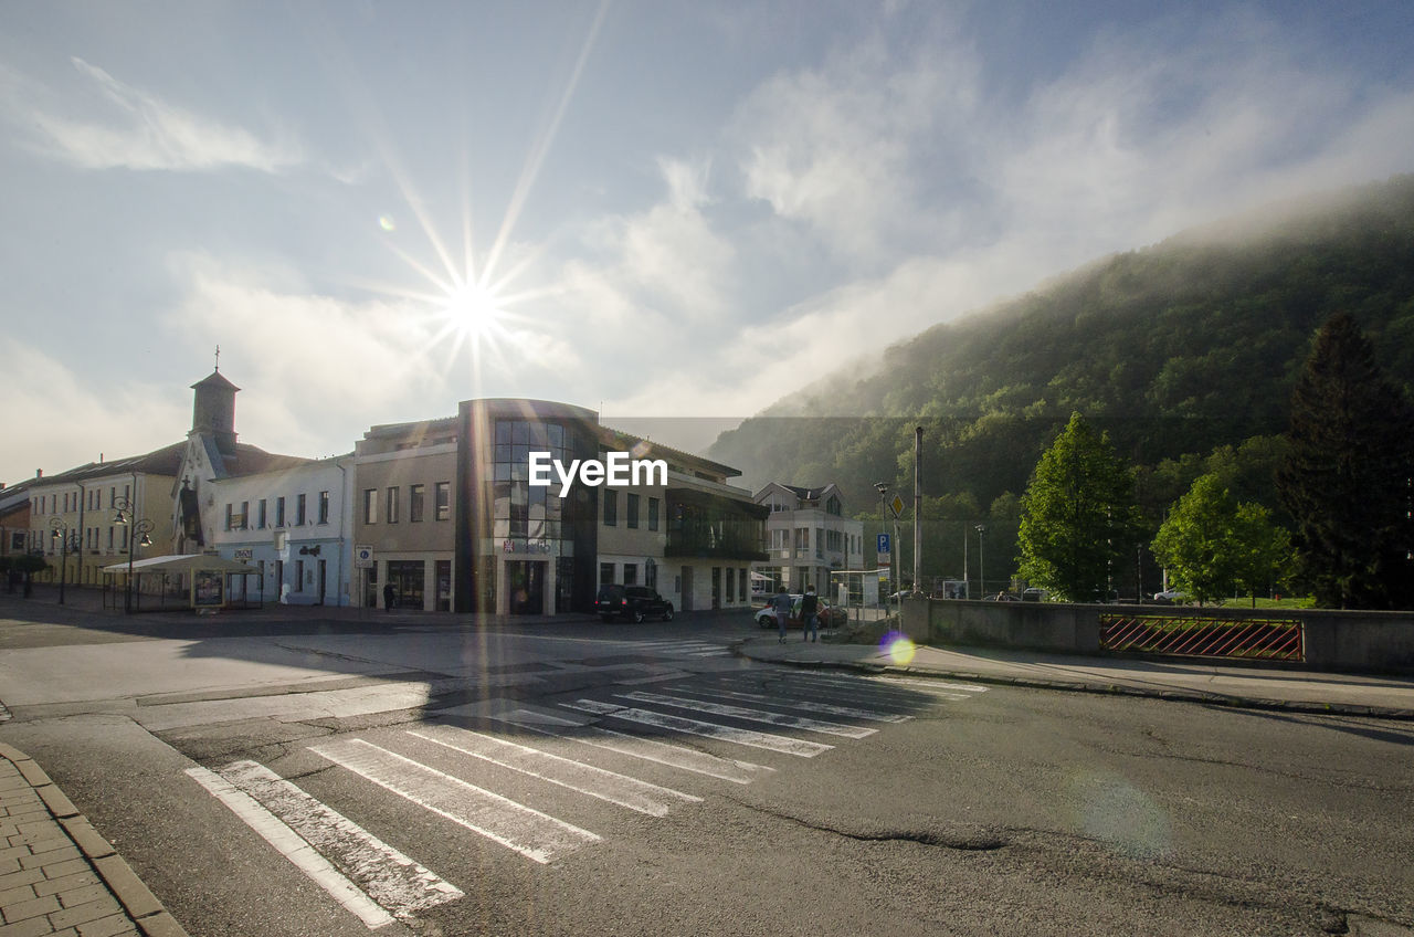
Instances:
[[[1216,473],[1199,476],[1168,512],[1154,556],[1169,580],[1198,602],[1237,589],[1253,596],[1280,583],[1291,558],[1287,532],[1258,504],[1239,504]]]

